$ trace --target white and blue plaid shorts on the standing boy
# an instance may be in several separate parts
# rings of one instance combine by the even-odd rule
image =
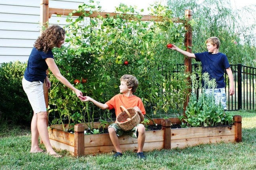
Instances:
[[[204,92],[207,95],[211,95],[212,89],[205,89]],[[221,103],[221,105],[223,106],[223,109],[227,110],[225,88],[214,89],[214,98],[215,98],[215,104],[218,105],[219,103]]]

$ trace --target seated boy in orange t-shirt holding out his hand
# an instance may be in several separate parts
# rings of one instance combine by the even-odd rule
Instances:
[[[136,77],[132,75],[123,75],[120,79],[120,93],[117,94],[112,99],[110,99],[105,104],[100,103],[98,101],[95,101],[89,96],[85,96],[85,100],[83,101],[91,101],[96,106],[98,106],[101,109],[115,109],[115,115],[117,116],[119,113],[121,113],[120,106],[124,106],[125,108],[134,108],[135,112],[138,112],[141,121],[144,120],[144,115],[146,114],[143,102],[141,99],[137,96],[135,96],[133,93],[138,88],[138,80]],[[113,157],[121,157],[122,156],[122,150],[120,148],[120,143],[118,137],[121,136],[124,131],[119,127],[117,123],[113,123],[109,125],[108,127],[109,137],[115,147],[116,153],[113,155]],[[144,153],[143,153],[143,146],[145,143],[145,127],[143,124],[137,124],[132,130],[126,132],[130,136],[138,139],[138,150],[137,150],[137,158],[146,159]]]

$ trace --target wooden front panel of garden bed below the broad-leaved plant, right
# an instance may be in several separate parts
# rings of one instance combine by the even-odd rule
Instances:
[[[235,138],[235,125],[171,129],[171,148],[220,142],[234,143]]]

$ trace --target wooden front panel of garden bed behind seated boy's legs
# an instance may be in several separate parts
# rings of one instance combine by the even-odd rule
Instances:
[[[109,153],[115,150],[109,133],[93,134],[84,136],[84,154],[101,154]],[[119,142],[122,151],[137,152],[137,139],[129,135],[122,135],[119,137]],[[146,131],[146,139],[143,151],[161,150],[163,149],[163,130],[148,130]]]

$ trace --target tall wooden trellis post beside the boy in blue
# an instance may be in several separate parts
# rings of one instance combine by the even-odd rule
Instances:
[[[185,16],[187,18],[188,21],[192,20],[192,10],[187,9],[185,11]],[[187,30],[186,34],[185,34],[185,40],[184,40],[184,45],[186,46],[186,51],[188,51],[189,53],[192,52],[192,27],[190,24],[188,24],[188,22],[186,23],[185,29]],[[191,64],[191,58],[189,57],[185,57],[185,61],[184,61],[185,67],[186,67],[186,72],[191,73],[192,72],[192,64]],[[189,84],[191,84],[191,80],[190,77],[187,78]],[[187,104],[189,102],[189,93],[191,92],[191,89],[187,89],[188,94],[186,97],[186,101],[184,102],[183,105],[183,114],[185,114],[186,111],[186,107]]]

